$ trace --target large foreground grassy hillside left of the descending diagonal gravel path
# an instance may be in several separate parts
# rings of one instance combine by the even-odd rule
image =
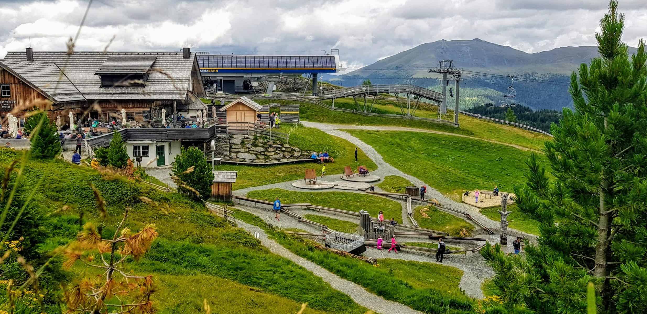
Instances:
[[[16,153],[2,149],[0,163],[6,167],[16,158]],[[127,181],[120,176],[102,175],[93,169],[79,167],[56,160],[54,162],[29,162],[25,169],[25,191],[30,191],[39,178],[41,185],[34,204],[35,210],[45,213],[71,205],[76,210],[86,211],[85,221],[96,220],[96,201],[87,182],[93,183],[101,192],[109,213],[102,235],[111,236],[114,225],[120,220],[124,207],[131,207],[127,226],[138,229],[144,223],[154,222],[160,237],[142,260],[132,263],[136,273],[151,274],[160,278],[157,283],[161,293],[154,295],[162,313],[177,313],[177,309],[200,309],[203,298],[210,295],[183,294],[184,298],[167,298],[168,291],[177,291],[173,285],[182,284],[182,278],[205,283],[220,282],[243,298],[268,298],[276,304],[243,304],[242,309],[255,308],[251,313],[267,313],[274,308],[294,311],[294,306],[309,302],[309,308],[329,313],[364,313],[366,309],[355,304],[349,297],[332,289],[321,278],[309,271],[270,253],[259,245],[258,240],[247,232],[230,227],[224,220],[208,213],[203,205],[186,196],[161,193],[149,187]],[[146,195],[158,204],[169,205],[168,215],[159,208],[147,205],[138,199]],[[50,238],[43,244],[49,251],[67,243],[79,230],[78,216],[49,216],[47,225]],[[280,271],[276,271],[280,269]],[[172,278],[166,282],[164,278]],[[252,287],[246,287],[247,285]],[[182,289],[184,290],[184,289]],[[167,292],[164,292],[167,291]],[[210,303],[212,300],[208,300]],[[230,304],[233,312],[240,313],[236,304]],[[191,313],[197,311],[189,310]]]

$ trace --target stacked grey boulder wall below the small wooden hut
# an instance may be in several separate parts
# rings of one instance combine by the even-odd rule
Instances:
[[[229,143],[228,160],[234,162],[273,163],[307,158],[305,155],[302,157],[299,147],[263,136],[234,135]]]

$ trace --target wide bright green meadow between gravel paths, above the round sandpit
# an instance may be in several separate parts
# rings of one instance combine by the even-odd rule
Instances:
[[[524,183],[529,152],[485,141],[406,131],[348,131],[384,160],[456,200],[465,190],[510,191]],[[540,156],[543,158],[543,156]]]

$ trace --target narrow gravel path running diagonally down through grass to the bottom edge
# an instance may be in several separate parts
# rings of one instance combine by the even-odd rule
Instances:
[[[321,277],[323,281],[330,284],[334,289],[342,291],[351,297],[357,304],[364,306],[365,308],[372,309],[378,313],[382,314],[422,314],[420,311],[409,308],[403,304],[384,300],[382,297],[378,297],[369,291],[366,291],[364,287],[355,284],[349,280],[345,280],[333,273],[327,271],[325,268],[314,264],[313,262],[298,256],[291,251],[288,251],[285,247],[278,244],[276,241],[267,237],[265,231],[256,227],[255,225],[250,225],[245,222],[239,222],[239,227],[249,231],[250,233],[258,232],[260,235],[259,240],[263,246],[268,247],[272,253],[283,256],[292,260],[292,262],[302,266],[303,268],[311,271],[314,275]]]

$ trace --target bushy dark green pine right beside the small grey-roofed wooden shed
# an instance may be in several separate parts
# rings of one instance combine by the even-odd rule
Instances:
[[[190,168],[193,167],[193,170]],[[206,163],[204,153],[197,147],[182,148],[173,163],[173,176],[178,182],[179,191],[206,200],[211,196],[214,174]],[[197,192],[197,193],[196,193]]]

